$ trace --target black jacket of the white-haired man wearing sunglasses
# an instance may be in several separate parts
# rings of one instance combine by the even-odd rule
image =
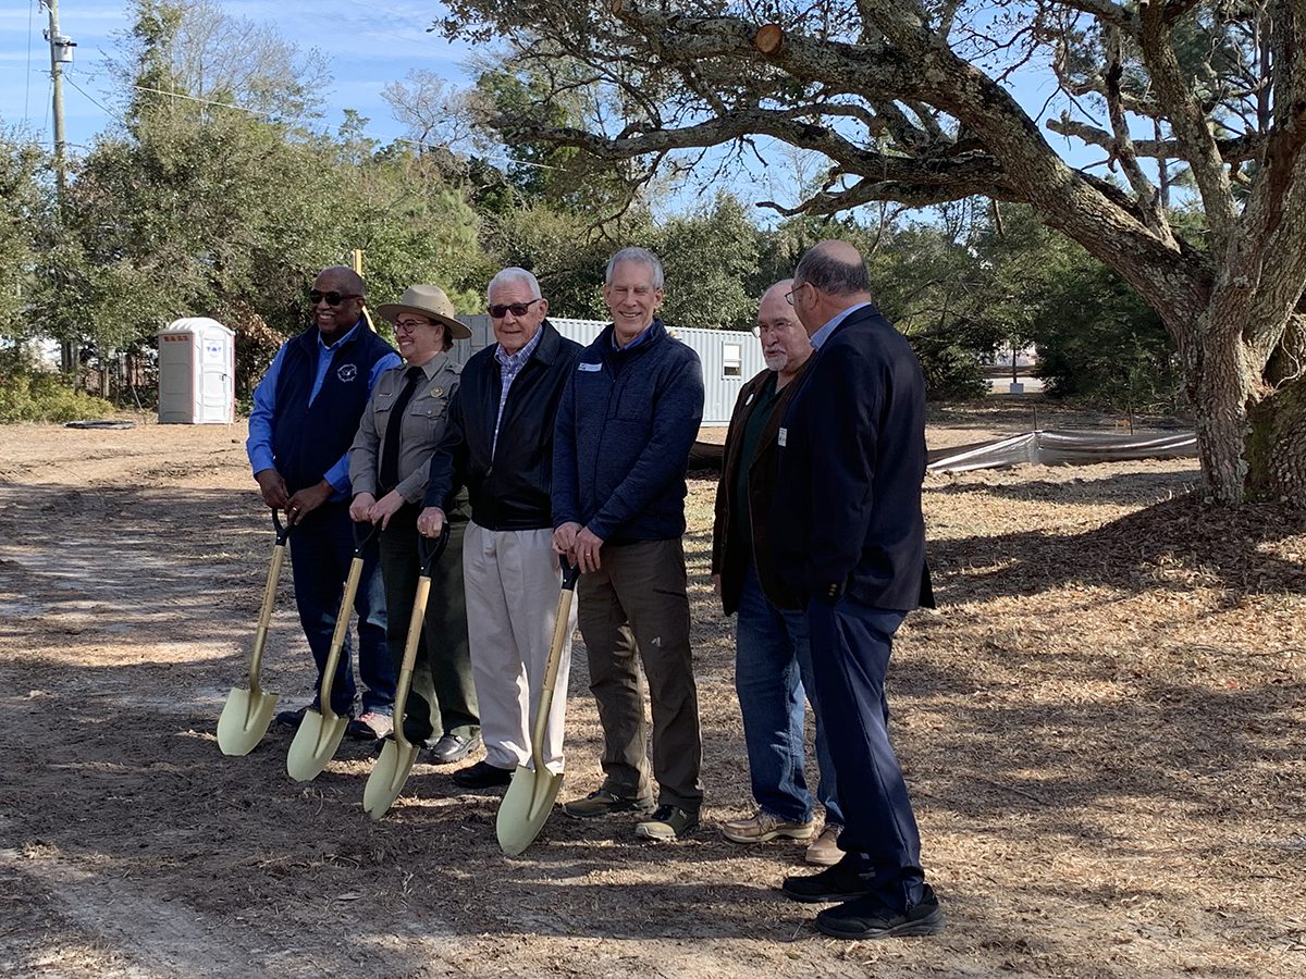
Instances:
[[[471,520],[487,530],[552,527],[554,420],[580,343],[559,334],[549,320],[539,329],[539,343],[508,388],[498,445],[499,345],[477,351],[464,365],[444,437],[431,457],[427,506],[444,506],[451,489],[465,484]]]

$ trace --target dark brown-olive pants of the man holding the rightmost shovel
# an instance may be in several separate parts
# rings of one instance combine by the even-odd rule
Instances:
[[[658,804],[697,813],[703,805],[703,741],[690,653],[684,548],[679,538],[644,540],[605,547],[601,559],[602,568],[581,576],[577,600],[589,654],[589,688],[603,724],[605,787],[622,796],[649,795],[648,677]]]

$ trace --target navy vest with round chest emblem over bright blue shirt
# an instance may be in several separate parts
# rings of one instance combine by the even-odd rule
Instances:
[[[325,476],[349,452],[367,407],[372,367],[394,350],[366,328],[340,341],[321,390],[308,403],[317,376],[317,328],[310,326],[286,342],[277,375],[277,411],[272,419],[272,450],[277,471],[294,493]]]

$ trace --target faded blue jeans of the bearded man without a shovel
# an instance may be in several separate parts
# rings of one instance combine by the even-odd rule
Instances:
[[[752,563],[735,619],[735,692],[743,715],[748,774],[757,805],[786,822],[807,822],[812,798],[803,773],[803,692],[816,715],[816,796],[825,822],[842,826],[825,724],[812,681],[807,615],[776,608],[757,583]]]

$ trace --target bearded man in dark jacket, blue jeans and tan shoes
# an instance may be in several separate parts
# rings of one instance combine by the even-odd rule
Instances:
[[[776,488],[780,419],[812,354],[811,339],[785,302],[793,282],[768,288],[757,308],[757,337],[767,369],[739,392],[726,432],[712,530],[712,583],[726,615],[735,617],[735,692],[748,749],[748,775],[757,811],[730,820],[721,833],[735,843],[777,837],[811,839],[807,862],[837,863],[842,816],[807,645],[807,615],[785,610],[771,567],[767,526]],[[816,835],[807,790],[803,693],[816,715],[818,795],[825,826]],[[815,839],[814,839],[815,837]]]

